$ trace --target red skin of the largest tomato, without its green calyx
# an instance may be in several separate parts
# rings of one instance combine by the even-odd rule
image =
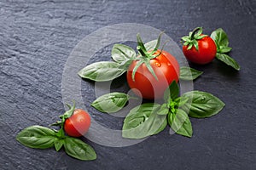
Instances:
[[[160,53],[158,50],[156,53]],[[143,99],[160,99],[163,98],[166,88],[172,83],[173,80],[178,82],[179,65],[177,59],[166,51],[150,59],[154,73],[158,80],[154,78],[145,64],[140,65],[135,73],[135,81],[132,80],[132,71],[137,65],[137,60],[134,60],[127,71],[127,82],[132,91]]]

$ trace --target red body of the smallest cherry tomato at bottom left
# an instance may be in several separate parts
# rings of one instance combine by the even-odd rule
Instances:
[[[69,136],[80,137],[87,133],[90,127],[90,115],[81,109],[76,109],[73,115],[64,122],[64,130]]]

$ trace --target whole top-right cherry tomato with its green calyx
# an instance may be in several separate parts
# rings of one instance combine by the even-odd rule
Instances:
[[[196,34],[195,32],[198,31]],[[195,28],[189,36],[182,37],[183,54],[192,63],[204,65],[210,63],[216,56],[217,47],[211,37],[201,34],[202,28]]]

